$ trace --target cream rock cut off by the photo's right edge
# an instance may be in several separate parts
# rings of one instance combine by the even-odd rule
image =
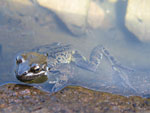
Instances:
[[[139,40],[150,41],[150,0],[128,0],[125,25]]]

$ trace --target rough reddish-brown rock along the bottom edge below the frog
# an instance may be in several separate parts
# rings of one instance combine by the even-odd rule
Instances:
[[[0,86],[1,113],[146,113],[150,99],[66,87],[49,94],[26,85]]]

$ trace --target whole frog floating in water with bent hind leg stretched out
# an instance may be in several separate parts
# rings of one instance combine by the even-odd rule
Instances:
[[[95,73],[103,57],[108,60],[114,71],[120,73],[124,84],[135,90],[128,77],[121,71],[127,68],[119,64],[102,45],[93,48],[89,60],[71,44],[54,42],[36,47],[17,55],[15,74],[16,78],[24,83],[48,82],[52,84],[51,92],[57,92],[73,76],[73,67]]]

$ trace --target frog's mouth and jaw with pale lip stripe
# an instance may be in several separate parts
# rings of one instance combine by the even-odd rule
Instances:
[[[40,71],[39,73],[24,72],[22,75],[16,74],[16,77],[18,80],[22,82],[35,83],[38,79],[47,77],[47,72],[46,71]]]

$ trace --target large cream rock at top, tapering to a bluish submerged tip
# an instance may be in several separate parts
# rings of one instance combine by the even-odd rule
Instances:
[[[91,0],[37,0],[61,19],[67,28],[75,35],[85,32],[86,17]]]

